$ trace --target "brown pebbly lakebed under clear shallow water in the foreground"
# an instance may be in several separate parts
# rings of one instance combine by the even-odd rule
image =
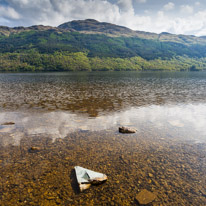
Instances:
[[[54,142],[25,136],[19,146],[0,148],[0,205],[135,205],[142,191],[151,192],[148,205],[204,205],[206,145],[164,135],[82,131]],[[108,181],[79,193],[75,165]]]

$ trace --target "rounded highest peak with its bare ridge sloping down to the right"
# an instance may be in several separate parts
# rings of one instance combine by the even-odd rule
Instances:
[[[183,44],[206,43],[205,39],[193,35],[174,35],[167,32],[155,34],[151,32],[134,31],[127,27],[107,22],[98,22],[94,19],[71,21],[59,25],[58,28],[85,34],[105,34],[111,37],[139,37],[143,39],[170,41]]]

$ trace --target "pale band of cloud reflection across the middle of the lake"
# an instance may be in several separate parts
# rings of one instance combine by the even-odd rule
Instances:
[[[142,126],[156,129],[181,129],[194,132],[194,139],[206,141],[206,104],[182,104],[170,106],[131,107],[125,111],[114,112],[89,118],[86,115],[64,111],[47,113],[1,112],[0,124],[14,121],[12,126],[0,126],[0,145],[18,145],[24,136],[42,135],[64,138],[68,133],[78,130],[100,131],[118,126],[131,126],[139,131]]]

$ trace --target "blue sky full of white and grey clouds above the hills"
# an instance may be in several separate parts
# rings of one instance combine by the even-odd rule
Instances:
[[[148,32],[206,35],[206,0],[0,0],[2,26],[96,19]]]

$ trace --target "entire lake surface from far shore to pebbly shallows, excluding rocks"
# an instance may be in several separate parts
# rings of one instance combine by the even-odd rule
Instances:
[[[0,74],[0,173],[0,205],[205,205],[206,72]]]

